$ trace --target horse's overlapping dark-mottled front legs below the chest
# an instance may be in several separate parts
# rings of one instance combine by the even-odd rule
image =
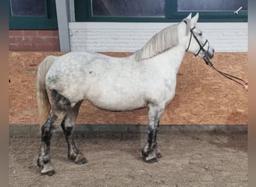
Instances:
[[[159,128],[159,119],[164,111],[165,105],[149,105],[147,142],[142,149],[142,156],[145,162],[157,162],[162,157],[156,141],[156,134]]]

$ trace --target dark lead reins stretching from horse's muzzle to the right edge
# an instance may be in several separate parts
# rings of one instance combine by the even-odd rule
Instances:
[[[230,74],[228,74],[228,73],[224,73],[224,72],[222,72],[222,71],[216,69],[216,67],[214,67],[214,66],[213,66],[213,63],[210,61],[210,58],[208,57],[208,55],[206,55],[206,56],[204,57],[204,61],[205,61],[205,63],[206,63],[208,66],[210,66],[211,68],[213,68],[213,70],[216,70],[216,72],[220,73],[222,76],[225,76],[226,78],[228,78],[228,79],[230,79],[230,80],[232,80],[232,81],[234,81],[234,82],[237,82],[237,84],[242,85],[243,88],[244,88],[246,91],[248,91],[248,82],[244,81],[243,79],[241,79],[241,78],[239,78],[239,77],[237,77],[237,76],[232,76],[232,75],[230,75]]]

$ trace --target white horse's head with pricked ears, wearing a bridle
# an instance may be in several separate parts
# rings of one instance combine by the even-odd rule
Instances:
[[[208,60],[213,58],[214,49],[210,46],[209,41],[204,38],[203,32],[198,28],[199,14],[197,13],[194,17],[191,17],[191,13],[186,19],[183,19],[183,22],[186,23],[186,52],[192,52],[194,55]]]

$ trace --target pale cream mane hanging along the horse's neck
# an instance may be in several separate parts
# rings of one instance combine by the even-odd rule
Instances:
[[[177,46],[177,24],[168,26],[155,34],[141,49],[135,52],[135,60],[141,61]]]

